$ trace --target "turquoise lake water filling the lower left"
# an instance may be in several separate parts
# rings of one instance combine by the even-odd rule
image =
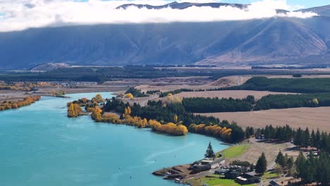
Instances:
[[[202,159],[211,137],[171,137],[126,125],[66,117],[66,102],[96,93],[43,97],[0,112],[0,185],[176,185],[152,175],[160,168]],[[112,97],[102,92],[102,97]]]

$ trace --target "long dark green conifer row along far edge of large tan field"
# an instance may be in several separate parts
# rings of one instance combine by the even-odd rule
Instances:
[[[322,94],[269,94],[255,101],[255,97],[245,99],[183,98],[182,104],[193,113],[237,112],[268,109],[288,109],[299,107],[330,106],[330,93]]]

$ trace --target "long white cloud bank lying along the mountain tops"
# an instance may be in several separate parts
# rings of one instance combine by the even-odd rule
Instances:
[[[207,2],[193,0],[194,2]],[[116,9],[121,4],[163,5],[169,1],[102,1],[87,2],[68,0],[0,0],[0,31],[24,30],[29,27],[99,23],[171,23],[211,22],[224,20],[249,20],[286,16],[310,18],[316,13],[276,13],[276,9],[291,10],[285,0],[263,0],[245,9],[221,6],[220,8],[190,7],[183,10],[160,10],[128,7]]]

